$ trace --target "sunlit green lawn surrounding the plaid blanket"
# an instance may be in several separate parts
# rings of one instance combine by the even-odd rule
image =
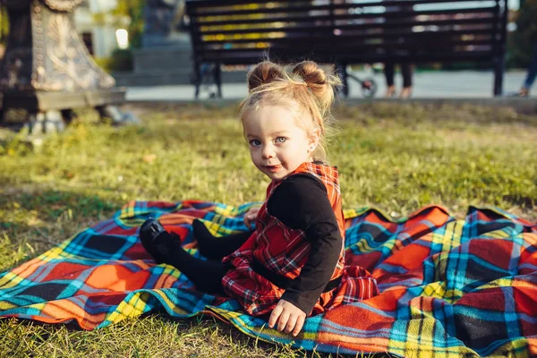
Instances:
[[[115,128],[82,120],[30,149],[0,142],[0,269],[21,264],[127,200],[263,200],[236,106],[135,107],[143,123]],[[537,116],[486,107],[377,104],[337,107],[344,208],[405,216],[439,203],[457,216],[497,206],[537,220]],[[9,137],[9,136],[8,136]],[[0,320],[0,356],[282,356],[303,351],[256,342],[212,319],[158,314],[85,332]],[[322,356],[322,354],[309,354]]]

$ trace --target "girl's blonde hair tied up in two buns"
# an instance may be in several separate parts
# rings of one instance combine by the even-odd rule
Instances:
[[[341,85],[334,74],[334,67],[325,72],[312,61],[303,61],[288,68],[264,61],[248,72],[247,81],[249,94],[239,107],[241,121],[246,110],[257,110],[260,106],[298,109],[294,116],[297,124],[302,125],[309,136],[315,130],[320,132],[313,159],[326,160],[328,139],[333,134],[330,107],[334,102],[336,86]]]

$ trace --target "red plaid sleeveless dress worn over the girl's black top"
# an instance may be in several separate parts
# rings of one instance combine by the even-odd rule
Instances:
[[[336,214],[341,236],[345,238],[345,220],[341,209],[341,194],[337,168],[314,163],[303,163],[291,175],[306,173],[318,178],[325,185],[328,200]],[[267,201],[281,182],[272,182],[267,188],[267,200],[256,218],[256,230],[237,251],[224,258],[223,262],[232,268],[222,279],[224,290],[234,297],[251,315],[262,315],[274,309],[285,289],[273,285],[267,278],[260,276],[251,268],[256,260],[268,270],[280,276],[293,279],[300,274],[308,260],[311,243],[308,243],[303,230],[291,229],[276,217],[268,214]],[[343,242],[341,253],[331,280],[342,277],[341,283],[332,291],[320,294],[312,314],[319,314],[344,303],[371,298],[379,294],[376,281],[364,268],[345,267]],[[310,313],[310,312],[306,312]]]

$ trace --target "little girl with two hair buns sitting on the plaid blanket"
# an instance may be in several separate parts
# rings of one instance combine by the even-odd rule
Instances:
[[[199,260],[155,219],[141,242],[158,262],[180,269],[200,290],[227,294],[268,326],[296,336],[305,318],[378,294],[363,268],[345,267],[345,223],[337,168],[325,158],[325,123],[338,79],[305,61],[291,71],[270,62],[248,74],[239,113],[253,164],[271,179],[267,200],[244,222],[255,231],[215,238],[193,222]]]

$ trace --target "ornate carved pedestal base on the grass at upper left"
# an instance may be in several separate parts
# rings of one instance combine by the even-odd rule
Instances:
[[[103,111],[124,101],[125,90],[93,61],[72,25],[72,11],[82,0],[0,0],[7,6],[10,35],[0,64],[1,124],[44,132],[63,125],[41,125],[53,119],[68,123],[72,108],[96,107],[115,113],[115,122],[132,122],[132,115]],[[22,108],[26,118],[10,115]]]

